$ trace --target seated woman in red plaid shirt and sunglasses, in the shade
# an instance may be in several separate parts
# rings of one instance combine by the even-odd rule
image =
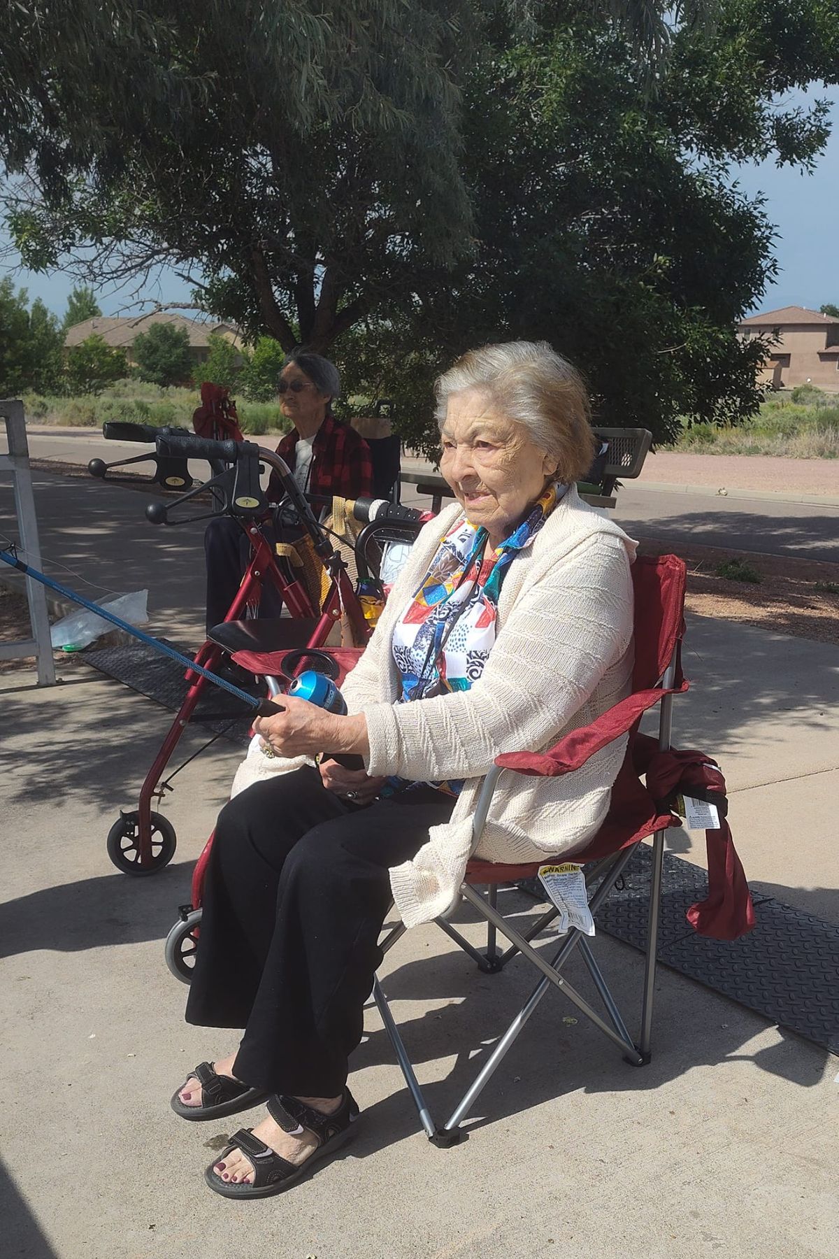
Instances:
[[[279,409],[292,422],[277,453],[288,463],[306,494],[358,499],[372,491],[370,447],[332,414],[340,397],[341,376],[335,364],[319,354],[296,351],[279,375]],[[272,502],[282,499],[282,487],[272,473],[268,487]],[[263,529],[270,529],[270,524]],[[250,558],[250,546],[240,525],[229,516],[216,516],[204,534],[206,554],[206,631],[224,621],[239,589]],[[263,597],[263,616],[279,616],[273,589]],[[272,606],[273,604],[273,606]]]

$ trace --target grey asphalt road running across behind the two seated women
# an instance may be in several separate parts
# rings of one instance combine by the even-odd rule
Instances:
[[[99,457],[114,460],[140,453],[130,442],[106,442],[86,429],[55,429],[29,434],[35,458],[87,463]],[[756,461],[757,462],[757,461]],[[192,465],[206,476],[206,465]],[[102,487],[101,487],[102,488]],[[727,546],[767,555],[791,555],[839,563],[839,506],[782,502],[777,499],[727,497],[716,492],[678,494],[650,485],[626,483],[618,495],[614,519],[631,536],[650,541]],[[405,486],[406,504],[428,505],[414,487]]]

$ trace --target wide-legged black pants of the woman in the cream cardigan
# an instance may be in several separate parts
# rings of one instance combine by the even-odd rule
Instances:
[[[381,962],[387,870],[453,805],[418,787],[357,808],[307,767],[221,810],[186,1021],[245,1029],[238,1079],[298,1097],[341,1093]]]

